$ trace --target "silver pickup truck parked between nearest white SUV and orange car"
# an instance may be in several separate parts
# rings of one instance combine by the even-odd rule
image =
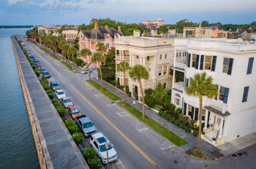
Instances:
[[[78,128],[85,137],[88,137],[97,132],[97,128],[94,126],[94,123],[91,122],[90,118],[86,115],[80,115],[75,117]]]

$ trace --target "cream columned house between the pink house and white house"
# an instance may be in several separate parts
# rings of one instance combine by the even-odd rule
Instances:
[[[148,80],[142,80],[143,90],[154,89],[158,83],[166,88],[171,87],[172,75],[169,74],[173,58],[184,63],[186,60],[186,49],[174,50],[175,38],[145,37],[140,36],[139,30],[134,30],[132,37],[118,37],[114,41],[116,48],[116,64],[126,61],[131,67],[136,64],[143,65],[149,73]],[[116,66],[117,67],[117,66]],[[123,85],[123,72],[116,70],[116,79]],[[125,74],[126,84],[133,96],[140,94],[139,83]]]

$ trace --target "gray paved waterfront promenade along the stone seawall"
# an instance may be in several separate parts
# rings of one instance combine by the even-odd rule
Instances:
[[[35,113],[33,122],[38,124],[36,130],[39,135],[39,142],[42,145],[42,161],[46,162],[47,168],[89,168],[58,112],[56,112],[54,105],[52,105],[51,100],[38,81],[36,74],[30,67],[23,51],[15,38],[11,38],[14,50],[16,50],[15,57],[19,62],[17,65],[20,64],[19,71],[24,75],[24,82],[21,84],[27,84],[29,91],[27,95],[32,101],[32,104],[27,106],[33,108],[32,111]]]

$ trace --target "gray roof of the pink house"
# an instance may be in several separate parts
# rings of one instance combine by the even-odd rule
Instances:
[[[104,41],[105,38],[107,38],[108,34],[111,35],[112,38],[114,38],[114,35],[121,35],[123,36],[123,33],[114,29],[109,28],[106,29],[104,26],[99,26],[98,30],[95,30],[92,28],[91,30],[81,30],[83,35],[86,36],[90,41]]]

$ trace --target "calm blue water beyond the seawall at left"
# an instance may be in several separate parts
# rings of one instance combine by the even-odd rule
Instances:
[[[0,168],[39,168],[10,35],[0,29]]]

